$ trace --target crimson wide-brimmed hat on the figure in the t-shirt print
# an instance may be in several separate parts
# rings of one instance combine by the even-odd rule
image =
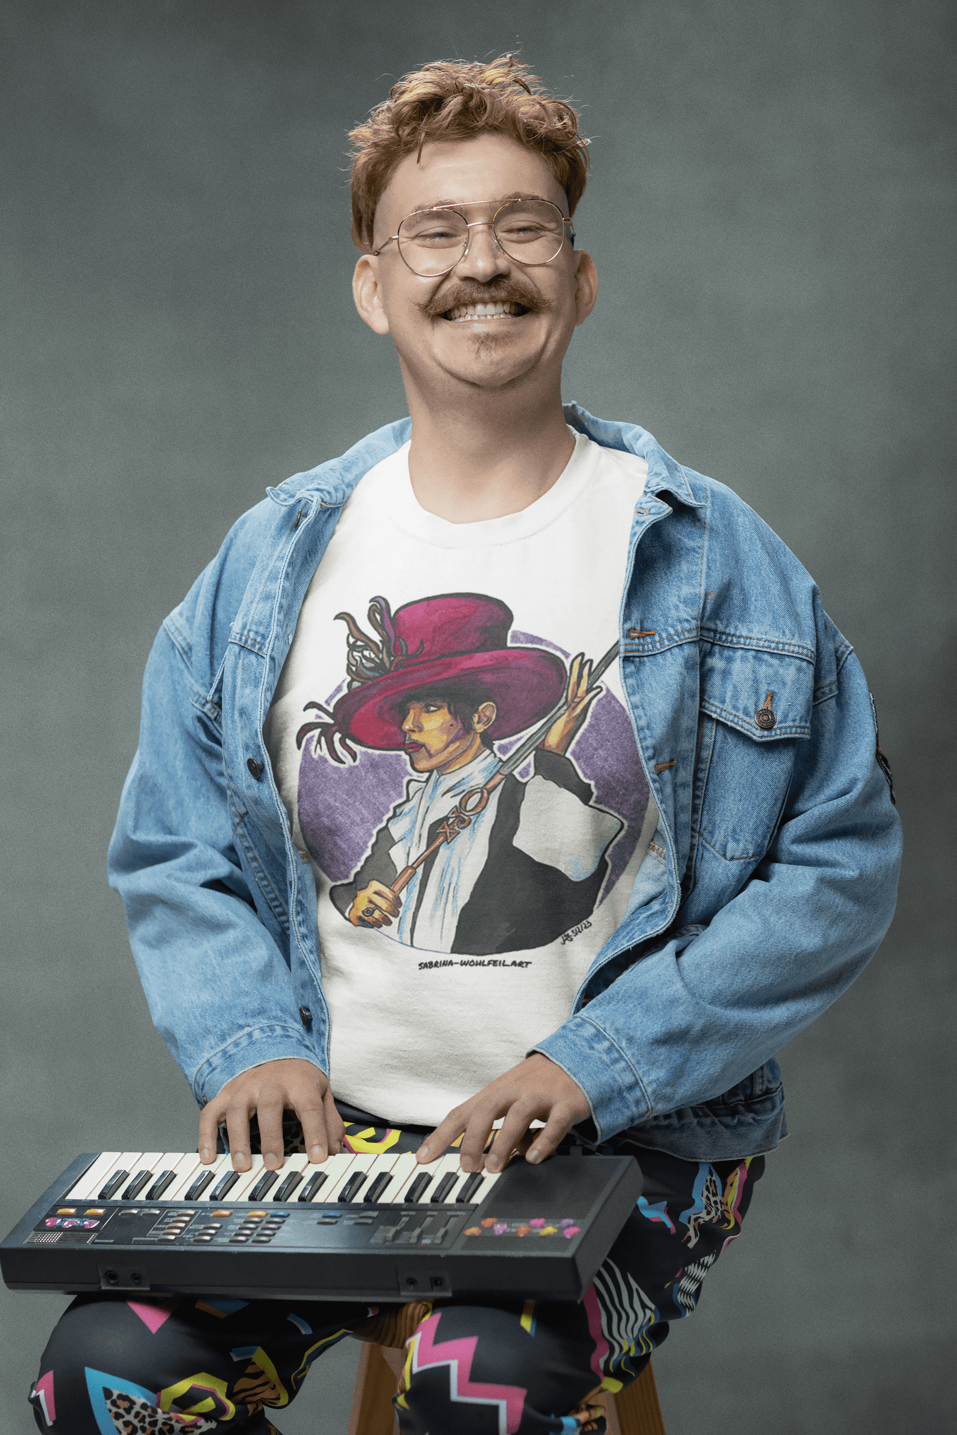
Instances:
[[[353,687],[333,709],[339,730],[363,748],[405,748],[405,703],[443,683],[466,680],[495,703],[492,742],[531,728],[558,702],[565,664],[541,647],[509,647],[512,613],[496,598],[443,593],[406,603],[395,614],[383,600],[374,601],[390,670]]]

